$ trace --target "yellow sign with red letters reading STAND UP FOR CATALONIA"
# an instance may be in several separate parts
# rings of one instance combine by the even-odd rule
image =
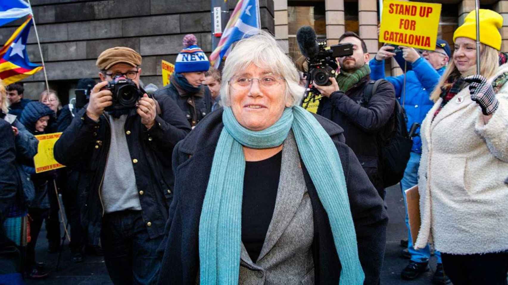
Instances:
[[[379,42],[434,50],[440,15],[441,4],[383,1]]]

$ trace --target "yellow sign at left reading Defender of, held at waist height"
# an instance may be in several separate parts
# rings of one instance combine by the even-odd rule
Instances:
[[[65,167],[59,164],[53,156],[53,147],[62,133],[52,133],[35,136],[39,140],[38,152],[34,156],[35,172],[45,172]]]

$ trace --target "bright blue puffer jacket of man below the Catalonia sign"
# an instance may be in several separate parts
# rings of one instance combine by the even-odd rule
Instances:
[[[370,78],[373,80],[385,78],[385,61],[378,61],[375,58],[370,60],[371,70]],[[404,74],[399,76],[386,77],[395,88],[395,96],[400,105],[404,103],[404,109],[407,114],[407,131],[413,123],[422,124],[425,115],[434,105],[430,98],[430,93],[439,82],[439,78],[444,72],[445,67],[434,69],[430,63],[420,57],[412,63],[412,70],[406,73],[406,96],[402,98],[404,87]],[[402,102],[405,101],[405,102]],[[420,139],[420,128],[417,129],[418,136],[413,138],[412,152],[422,153],[422,140]]]

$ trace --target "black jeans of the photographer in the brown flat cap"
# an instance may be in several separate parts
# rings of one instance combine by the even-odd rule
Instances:
[[[114,284],[153,284],[162,253],[156,250],[163,235],[150,238],[141,211],[105,214],[101,245],[109,277]]]

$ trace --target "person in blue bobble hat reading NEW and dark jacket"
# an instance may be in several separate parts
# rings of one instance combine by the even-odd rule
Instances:
[[[164,94],[173,98],[184,112],[190,126],[194,128],[212,110],[212,97],[205,82],[205,73],[210,62],[193,34],[183,37],[183,50],[176,57],[175,73],[168,87],[155,95]]]

